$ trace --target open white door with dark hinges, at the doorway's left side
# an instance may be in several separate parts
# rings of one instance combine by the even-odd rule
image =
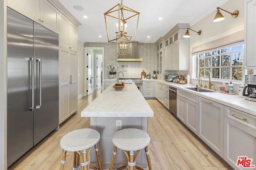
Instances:
[[[89,96],[94,90],[92,54],[87,54],[87,64],[87,96]]]

